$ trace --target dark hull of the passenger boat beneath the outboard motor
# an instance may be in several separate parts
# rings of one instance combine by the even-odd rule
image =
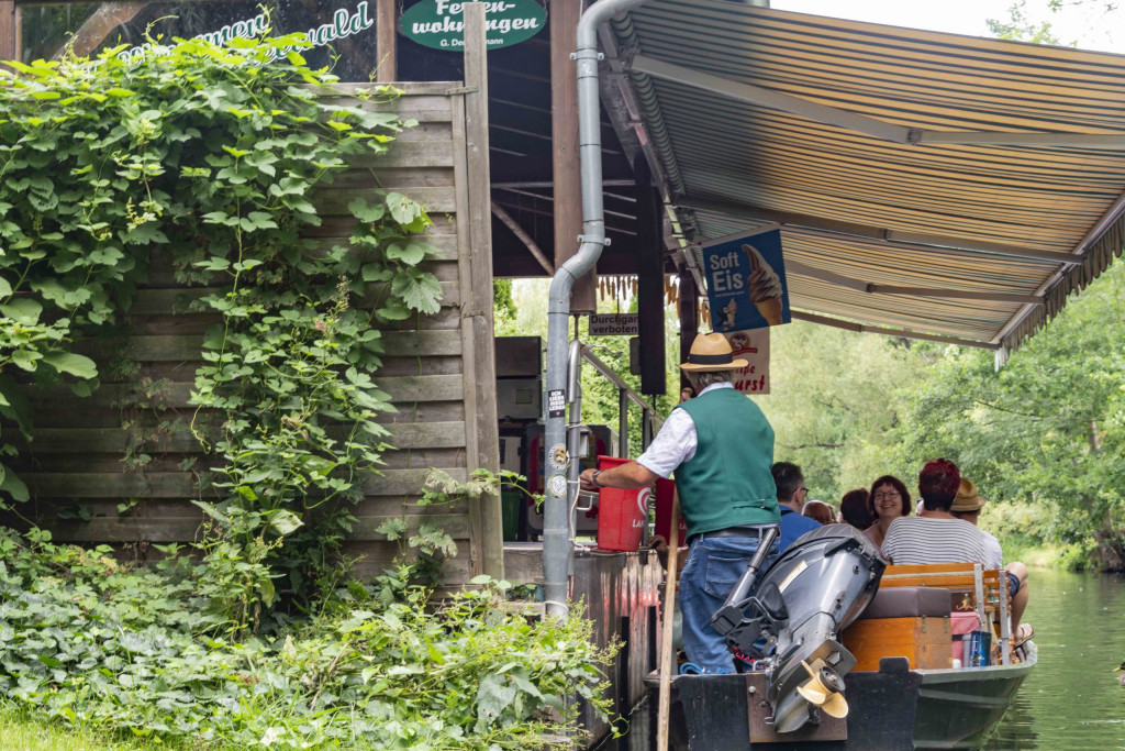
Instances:
[[[826,723],[807,726],[784,742],[754,743],[754,749],[975,749],[991,735],[1027,674],[1028,660],[1016,665],[961,670],[906,670],[904,660],[888,660],[879,672],[845,677],[849,712],[846,740]],[[750,749],[752,731],[760,737],[764,691],[749,676],[677,676],[673,679],[672,746],[690,751]],[[649,679],[650,689],[657,681]],[[758,706],[752,706],[752,703]],[[650,701],[655,707],[656,701]],[[655,722],[655,717],[651,718]],[[825,732],[829,731],[829,732]],[[765,732],[768,732],[766,730]],[[824,739],[824,740],[821,740]]]

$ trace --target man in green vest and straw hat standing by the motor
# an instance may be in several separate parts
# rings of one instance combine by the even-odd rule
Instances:
[[[721,333],[696,336],[680,367],[698,395],[672,411],[636,462],[582,473],[583,489],[596,490],[645,488],[675,471],[690,545],[680,576],[684,651],[703,672],[734,672],[711,614],[746,571],[762,535],[780,519],[770,474],[773,428],[731,383],[746,365],[735,359]],[[771,563],[777,549],[775,542]]]

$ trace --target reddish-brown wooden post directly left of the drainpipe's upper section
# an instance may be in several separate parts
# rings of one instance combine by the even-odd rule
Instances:
[[[551,0],[551,166],[555,171],[555,268],[578,253],[582,234],[582,166],[578,155],[578,48],[583,0]],[[570,312],[596,311],[597,270],[576,279]]]

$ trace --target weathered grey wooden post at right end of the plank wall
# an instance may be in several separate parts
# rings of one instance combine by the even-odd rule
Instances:
[[[465,3],[465,150],[466,200],[471,294],[461,310],[461,327],[471,333],[465,351],[466,399],[472,392],[470,446],[476,462],[469,470],[500,472],[500,427],[496,422],[496,345],[493,339],[492,198],[488,175],[488,46],[485,3]],[[462,295],[462,299],[465,296]],[[471,370],[469,370],[471,367]],[[466,401],[466,410],[469,402]],[[480,570],[504,578],[504,528],[500,489],[479,501]]]

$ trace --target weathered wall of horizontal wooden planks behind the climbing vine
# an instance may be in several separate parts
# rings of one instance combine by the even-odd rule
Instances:
[[[405,515],[412,528],[425,520],[438,522],[458,544],[458,555],[447,565],[447,581],[456,584],[479,573],[503,575],[501,544],[484,542],[489,538],[486,519],[493,517],[497,529],[490,537],[500,540],[498,501],[486,499],[471,508],[464,502],[416,507],[412,501],[430,467],[462,480],[482,464],[498,470],[488,466],[498,463],[489,461],[496,447],[489,455],[470,439],[478,422],[490,423],[494,433],[496,428],[494,397],[482,400],[477,394],[493,366],[490,311],[487,331],[472,325],[462,330],[462,307],[472,302],[471,275],[485,272],[490,284],[492,270],[474,263],[469,252],[468,216],[478,198],[465,189],[471,176],[464,90],[459,83],[443,82],[397,86],[405,95],[396,102],[364,106],[394,108],[404,118],[417,119],[417,127],[402,133],[386,155],[356,161],[318,195],[315,200],[324,222],[307,234],[328,247],[346,244],[353,227],[346,206],[376,185],[421,202],[433,220],[428,240],[441,257],[426,261],[425,268],[441,280],[441,311],[384,333],[386,355],[376,383],[392,395],[398,412],[379,421],[390,430],[388,442],[395,450],[385,455],[382,475],[366,480],[360,522],[346,553],[362,556],[358,573],[377,573],[399,552],[375,531],[385,519]],[[354,88],[341,86],[333,96],[356,101],[349,97]],[[487,206],[487,190],[483,200]],[[487,208],[483,216],[487,222]],[[197,537],[200,513],[190,500],[200,498],[198,474],[209,462],[188,430],[192,419],[188,399],[202,334],[217,321],[187,312],[190,299],[201,294],[205,290],[178,285],[170,263],[161,262],[156,253],[150,280],[128,315],[127,336],[93,341],[87,350],[99,360],[102,386],[87,399],[65,387],[29,390],[35,436],[14,464],[32,489],[34,512],[56,539],[143,549],[150,543]],[[467,356],[467,349],[475,355]],[[487,358],[487,368],[476,365],[482,357]],[[125,461],[127,453],[134,459],[145,454],[151,461],[142,466]],[[186,468],[192,458],[195,466]],[[118,513],[119,503],[134,500],[132,509]],[[73,518],[87,513],[93,516]],[[489,522],[488,531],[490,527]]]

